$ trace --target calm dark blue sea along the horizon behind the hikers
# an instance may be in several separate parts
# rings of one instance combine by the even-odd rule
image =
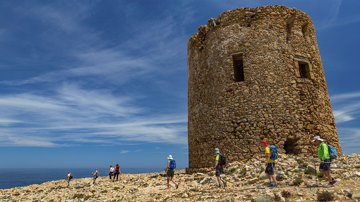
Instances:
[[[179,168],[184,169],[184,168]],[[109,168],[98,168],[100,176],[108,176]],[[94,168],[57,168],[57,169],[0,169],[0,189],[24,187],[30,184],[42,184],[52,180],[67,179],[71,172],[73,178],[93,177]],[[122,174],[159,173],[163,168],[120,168]]]

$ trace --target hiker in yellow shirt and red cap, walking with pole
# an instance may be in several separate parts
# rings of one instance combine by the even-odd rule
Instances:
[[[266,160],[265,174],[267,176],[267,179],[269,179],[269,181],[270,181],[270,184],[267,185],[267,187],[270,187],[270,189],[279,188],[278,181],[276,181],[276,178],[274,175],[275,161],[270,159],[270,157],[272,155],[270,146],[267,145],[266,141],[262,141],[261,146],[263,148],[265,148],[265,156],[259,155],[259,157],[265,158],[265,160]]]

